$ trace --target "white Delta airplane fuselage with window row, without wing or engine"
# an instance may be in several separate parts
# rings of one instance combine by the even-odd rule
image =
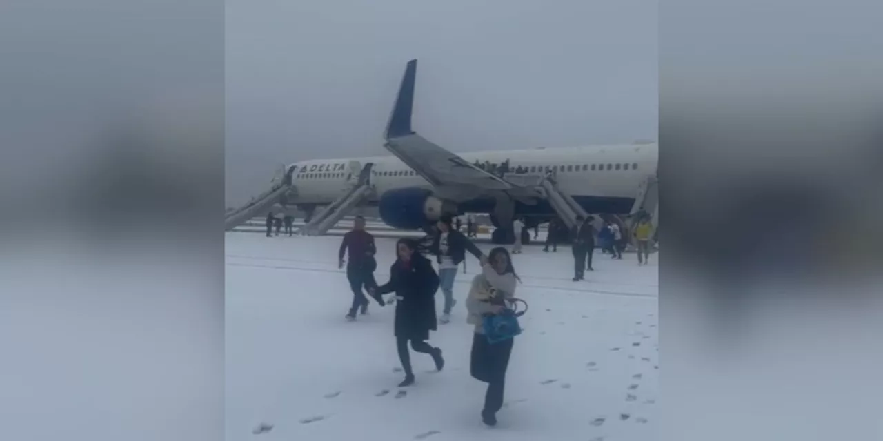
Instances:
[[[559,188],[569,193],[587,213],[627,213],[646,176],[656,173],[657,144],[581,146],[461,153],[473,165],[487,170],[505,168],[506,174],[542,174],[555,169]],[[395,156],[300,161],[292,183],[298,190],[298,206],[328,205],[341,197],[358,179],[358,171],[373,163],[371,183],[375,193],[368,205],[384,193],[404,188],[432,190],[432,185]],[[489,213],[493,200],[464,198],[455,201],[461,212]],[[545,201],[517,204],[517,215],[552,215]]]

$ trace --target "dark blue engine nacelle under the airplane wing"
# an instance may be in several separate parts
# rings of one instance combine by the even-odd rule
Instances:
[[[381,195],[381,219],[399,229],[420,229],[438,221],[443,213],[457,213],[457,206],[417,187],[390,190]]]

